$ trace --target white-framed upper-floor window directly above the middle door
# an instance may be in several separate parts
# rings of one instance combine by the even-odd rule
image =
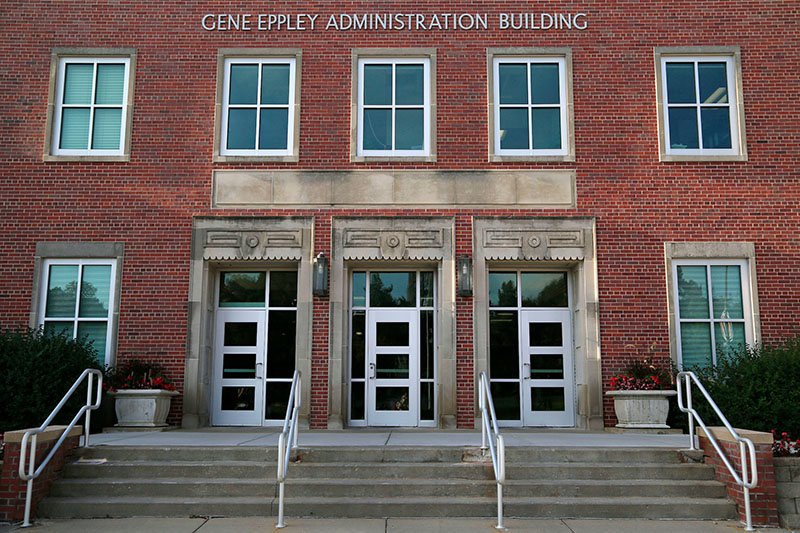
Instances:
[[[359,58],[357,77],[356,155],[430,156],[430,58]]]

